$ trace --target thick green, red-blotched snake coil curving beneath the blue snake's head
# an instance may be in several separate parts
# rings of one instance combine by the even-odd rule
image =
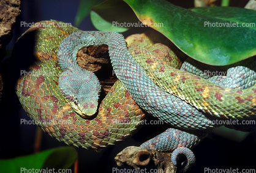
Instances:
[[[28,69],[32,75],[21,76],[15,88],[22,107],[43,131],[66,144],[97,150],[123,141],[134,134],[145,114],[121,82],[111,88],[92,119],[81,118],[62,96],[58,47],[67,35],[79,31],[63,26],[66,23],[41,21],[21,36],[36,32],[36,61]]]

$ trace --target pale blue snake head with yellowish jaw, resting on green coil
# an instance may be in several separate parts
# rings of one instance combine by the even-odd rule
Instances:
[[[93,72],[64,71],[59,77],[59,90],[83,118],[96,113],[99,100],[100,82]]]

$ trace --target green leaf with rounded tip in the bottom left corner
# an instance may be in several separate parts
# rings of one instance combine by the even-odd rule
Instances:
[[[73,147],[59,147],[37,154],[0,160],[0,172],[21,172],[25,169],[67,169],[76,159],[77,152]]]

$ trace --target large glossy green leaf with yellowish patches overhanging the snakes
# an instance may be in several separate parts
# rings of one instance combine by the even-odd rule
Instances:
[[[201,15],[164,0],[124,1],[134,10],[142,23],[164,34],[181,51],[200,62],[210,65],[229,65],[256,54],[256,27],[242,26],[244,22],[255,18],[256,11],[254,10],[228,7],[225,13],[214,18],[213,14],[213,16]],[[111,2],[113,10],[110,14],[107,12],[100,13],[100,9],[104,9],[104,4],[107,2]],[[102,20],[110,23],[111,18],[109,16],[124,18],[127,15],[116,12],[119,7],[115,3],[118,4],[120,1],[107,2],[97,5],[97,13],[102,17]],[[214,8],[216,8],[215,12],[224,10],[224,7]],[[124,4],[120,9],[125,9]],[[113,12],[116,13],[113,14]],[[210,13],[211,10],[209,10],[208,15]],[[234,13],[237,14],[236,17],[232,16]],[[130,18],[134,19],[132,15]],[[95,22],[93,21],[94,18],[91,19],[93,24],[99,24],[99,21]],[[216,23],[235,26],[236,21],[238,22],[236,27],[208,27],[209,24],[213,26]],[[109,29],[96,28],[99,30]],[[115,30],[109,29],[109,31]]]

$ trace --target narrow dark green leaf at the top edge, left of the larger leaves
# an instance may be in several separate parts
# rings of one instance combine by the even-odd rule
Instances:
[[[75,16],[75,26],[78,27],[80,25],[81,21],[89,14],[91,7],[102,2],[104,0],[80,0],[77,15]]]

